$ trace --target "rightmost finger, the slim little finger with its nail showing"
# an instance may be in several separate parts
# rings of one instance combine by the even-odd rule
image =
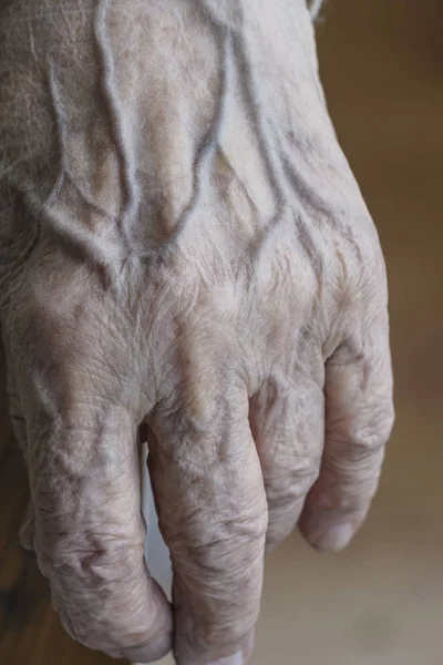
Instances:
[[[300,529],[319,549],[344,548],[377,491],[392,422],[387,315],[361,319],[326,367],[326,444]]]

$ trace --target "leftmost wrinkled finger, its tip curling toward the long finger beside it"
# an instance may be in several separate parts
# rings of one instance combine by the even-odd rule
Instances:
[[[151,662],[171,648],[172,617],[144,563],[136,420],[91,365],[62,367],[44,392],[39,379],[28,400],[35,551],[75,640]]]

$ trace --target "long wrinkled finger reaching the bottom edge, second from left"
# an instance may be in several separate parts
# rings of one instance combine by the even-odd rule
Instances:
[[[175,657],[244,665],[261,595],[265,489],[246,391],[222,395],[193,378],[186,407],[162,405],[151,419],[150,469],[174,571]]]

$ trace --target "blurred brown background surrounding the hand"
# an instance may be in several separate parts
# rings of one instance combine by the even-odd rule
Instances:
[[[330,112],[387,256],[398,422],[350,549],[319,555],[295,535],[269,559],[254,665],[443,662],[442,33],[442,0],[329,0],[318,28]],[[0,407],[0,664],[104,665],[64,635],[17,545],[25,480]]]

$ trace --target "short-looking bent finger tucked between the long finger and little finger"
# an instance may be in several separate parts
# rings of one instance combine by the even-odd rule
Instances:
[[[309,368],[305,370],[306,368]],[[323,450],[323,372],[302,364],[293,381],[274,378],[250,402],[250,422],[264,474],[267,549],[293,530],[318,478]]]

